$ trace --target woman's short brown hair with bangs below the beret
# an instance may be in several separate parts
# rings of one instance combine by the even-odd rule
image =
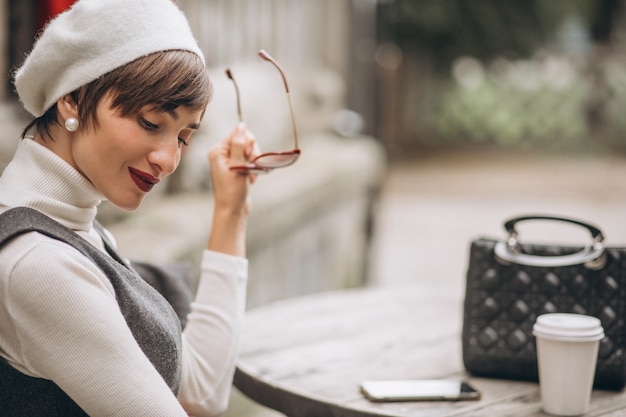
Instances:
[[[156,52],[117,68],[71,93],[78,104],[78,119],[83,126],[96,127],[98,102],[111,92],[112,108],[121,116],[137,113],[154,105],[169,112],[183,106],[192,111],[204,110],[213,88],[202,60],[182,50]],[[59,124],[57,105],[31,121],[22,132],[25,137],[35,127],[43,138],[50,138],[50,126]]]

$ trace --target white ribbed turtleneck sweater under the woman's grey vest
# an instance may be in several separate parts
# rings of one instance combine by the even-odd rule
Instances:
[[[102,198],[30,139],[0,177],[0,212],[31,207],[104,251],[93,229]],[[247,266],[244,258],[204,251],[177,399],[133,338],[98,266],[65,243],[21,235],[0,250],[0,356],[54,381],[90,416],[186,416],[180,404],[194,416],[218,415],[232,384]]]

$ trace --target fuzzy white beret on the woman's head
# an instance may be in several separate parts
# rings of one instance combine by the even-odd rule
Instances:
[[[15,73],[24,108],[42,116],[56,101],[142,56],[187,50],[204,62],[171,0],[79,0],[52,20]]]

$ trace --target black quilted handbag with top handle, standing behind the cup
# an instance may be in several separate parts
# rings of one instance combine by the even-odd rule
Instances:
[[[520,243],[516,224],[528,220],[573,223],[591,233],[585,247]],[[508,238],[472,241],[463,310],[463,363],[473,375],[537,381],[531,333],[544,313],[599,318],[594,386],[626,384],[626,248],[605,247],[600,229],[552,216],[516,217],[504,223]]]

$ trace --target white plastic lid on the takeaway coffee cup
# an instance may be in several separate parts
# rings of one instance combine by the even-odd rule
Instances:
[[[545,339],[587,342],[604,338],[604,329],[596,317],[551,313],[537,317],[533,334]]]

